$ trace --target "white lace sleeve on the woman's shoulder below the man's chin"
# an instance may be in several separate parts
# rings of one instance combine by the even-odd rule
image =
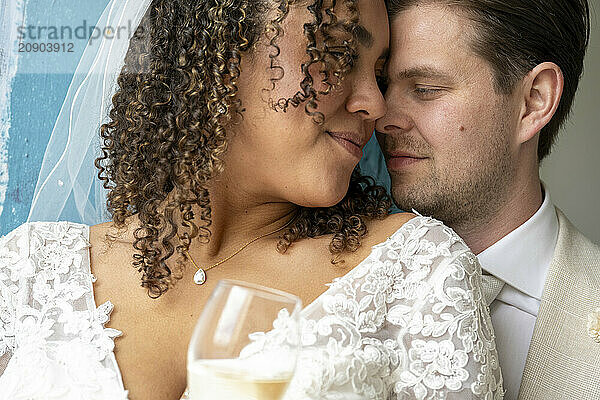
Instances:
[[[304,317],[289,398],[503,397],[481,268],[439,221],[413,218]]]

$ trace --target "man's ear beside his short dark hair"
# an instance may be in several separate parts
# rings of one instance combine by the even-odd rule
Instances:
[[[521,83],[520,143],[532,139],[554,116],[564,86],[560,67],[552,62],[538,64]]]

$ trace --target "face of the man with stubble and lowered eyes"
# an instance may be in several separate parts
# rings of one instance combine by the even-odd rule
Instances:
[[[391,20],[387,114],[377,139],[401,209],[452,225],[493,212],[516,173],[518,102],[471,49],[472,22],[448,8]]]

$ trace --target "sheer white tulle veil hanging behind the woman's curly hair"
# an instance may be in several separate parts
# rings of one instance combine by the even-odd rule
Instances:
[[[46,147],[28,221],[106,221],[106,190],[94,160],[100,155],[100,126],[108,121],[116,79],[151,0],[111,0],[96,27],[102,38],[88,42]]]

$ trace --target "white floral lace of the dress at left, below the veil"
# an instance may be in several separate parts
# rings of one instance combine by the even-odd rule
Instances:
[[[0,400],[127,399],[95,307],[85,225],[24,224],[0,239]],[[36,377],[35,379],[31,379]]]

